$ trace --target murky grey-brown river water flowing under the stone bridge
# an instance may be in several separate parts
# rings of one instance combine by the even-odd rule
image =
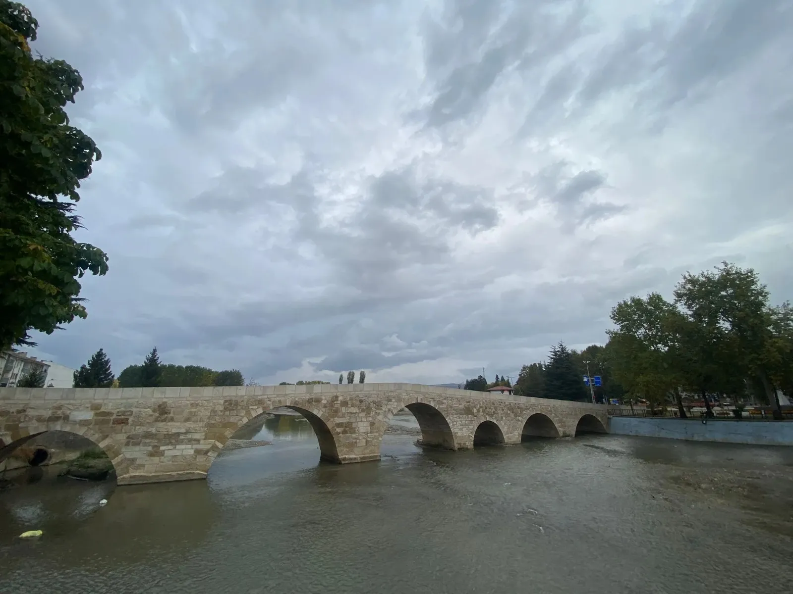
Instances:
[[[379,463],[335,466],[295,417],[255,439],[206,482],[0,491],[0,593],[791,592],[793,448],[422,451],[400,417]]]

